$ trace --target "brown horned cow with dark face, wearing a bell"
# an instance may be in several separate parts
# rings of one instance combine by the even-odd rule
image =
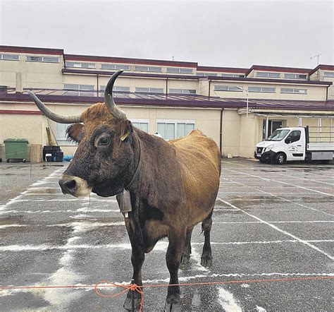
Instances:
[[[59,180],[63,193],[85,196],[92,191],[114,196],[127,190],[132,211],[124,213],[124,220],[132,246],[132,279],[142,286],[144,253],[168,237],[169,283],[178,284],[180,263],[189,261],[192,228],[199,222],[205,237],[202,265],[211,265],[211,215],[221,174],[219,150],[201,131],[166,142],[132,126],[113,102],[113,83],[120,73],[114,73],[106,85],[105,104],[94,104],[79,116],[55,114],[29,94],[49,118],[75,123],[67,133],[79,145]],[[124,200],[126,195],[118,196],[118,203]],[[138,308],[138,296],[135,304]],[[129,293],[124,307],[131,309]],[[180,287],[168,287],[165,309],[180,310]]]

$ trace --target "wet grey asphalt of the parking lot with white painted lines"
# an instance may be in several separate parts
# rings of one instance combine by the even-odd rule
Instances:
[[[116,198],[61,194],[64,166],[0,164],[0,287],[76,288],[0,289],[1,311],[123,311],[124,294],[94,292],[97,282],[127,284],[132,276]],[[204,237],[197,225],[190,265],[179,277],[237,282],[181,287],[182,311],[333,311],[334,165],[222,166],[213,265],[200,265]],[[167,244],[146,255],[144,284],[168,282]],[[166,288],[145,289],[143,311],[163,311],[165,299]]]

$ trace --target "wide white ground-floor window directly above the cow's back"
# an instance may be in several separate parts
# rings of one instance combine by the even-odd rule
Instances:
[[[194,130],[193,120],[157,120],[156,130],[165,140],[187,136]]]

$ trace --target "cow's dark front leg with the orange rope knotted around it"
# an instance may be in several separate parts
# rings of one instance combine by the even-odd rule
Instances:
[[[133,268],[132,275],[132,284],[135,283],[138,286],[142,286],[142,264],[144,263],[144,251],[142,247],[137,243],[137,239],[135,238],[134,227],[132,227],[132,222],[129,218],[125,218],[125,226],[128,230],[128,235],[130,238],[130,243],[132,247],[131,253],[131,262]],[[141,289],[142,290],[142,289]],[[128,291],[126,295],[126,299],[124,302],[124,308],[128,311],[132,311],[132,296],[134,299],[134,308],[135,311],[139,311],[140,309],[140,294],[138,292],[132,292],[132,290]]]

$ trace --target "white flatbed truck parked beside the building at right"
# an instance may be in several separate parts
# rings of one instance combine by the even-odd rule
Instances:
[[[311,137],[314,133],[310,133],[309,128],[276,129],[266,140],[256,144],[254,157],[260,162],[275,164],[291,160],[333,160],[334,127],[314,127],[318,131]]]

